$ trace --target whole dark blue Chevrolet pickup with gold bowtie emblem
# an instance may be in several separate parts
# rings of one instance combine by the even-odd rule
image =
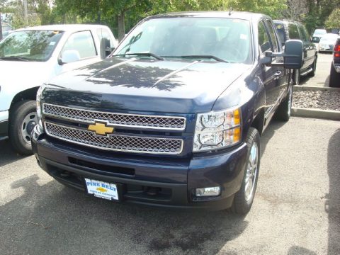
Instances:
[[[38,164],[66,186],[163,208],[232,208],[256,191],[260,135],[287,121],[292,69],[268,16],[167,13],[140,21],[101,62],[37,94]]]

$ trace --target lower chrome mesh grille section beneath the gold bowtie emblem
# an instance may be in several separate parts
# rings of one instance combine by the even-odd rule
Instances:
[[[173,138],[137,137],[128,135],[96,135],[95,132],[45,122],[47,135],[68,142],[118,152],[180,154],[183,140]]]

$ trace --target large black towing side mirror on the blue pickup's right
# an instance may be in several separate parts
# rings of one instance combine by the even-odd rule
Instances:
[[[285,67],[286,69],[300,69],[302,67],[303,43],[301,40],[287,40],[285,52],[266,52],[261,57],[261,64]],[[283,62],[273,63],[273,57],[283,57]]]

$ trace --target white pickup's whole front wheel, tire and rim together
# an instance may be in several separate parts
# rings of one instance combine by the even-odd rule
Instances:
[[[32,154],[30,132],[38,123],[35,101],[16,103],[10,111],[9,139],[12,147],[21,155]]]

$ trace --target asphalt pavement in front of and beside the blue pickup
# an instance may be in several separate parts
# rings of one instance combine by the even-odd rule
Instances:
[[[0,142],[0,254],[339,254],[340,123],[291,118],[261,137],[246,217],[111,203],[65,188]]]

